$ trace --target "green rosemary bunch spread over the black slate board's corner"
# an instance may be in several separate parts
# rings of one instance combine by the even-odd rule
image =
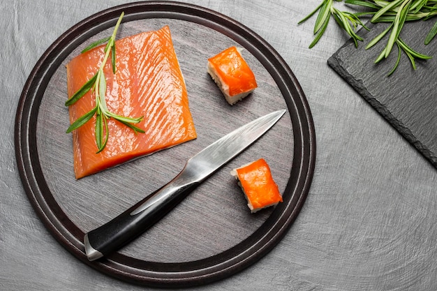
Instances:
[[[335,0],[341,1],[341,0]],[[334,8],[333,0],[323,0],[320,5],[313,10],[308,16],[299,22],[302,23],[308,20],[312,15],[318,12],[318,17],[316,19],[316,24],[314,25],[314,34],[316,37],[310,44],[310,48],[316,45],[320,37],[325,32],[329,18],[332,16],[339,24],[339,26],[349,34],[357,46],[357,40],[362,40],[360,36],[357,36],[355,31],[358,26],[369,30],[364,26],[362,19],[364,17],[370,18],[372,23],[377,22],[388,22],[390,26],[380,33],[376,38],[373,38],[366,45],[366,50],[376,45],[380,40],[382,40],[386,35],[388,35],[387,43],[382,52],[380,52],[375,63],[386,59],[392,52],[393,47],[398,49],[397,61],[394,64],[392,70],[388,75],[394,73],[394,70],[399,65],[401,59],[401,52],[404,52],[410,63],[415,69],[415,59],[431,59],[430,56],[416,52],[408,46],[400,37],[401,29],[403,25],[408,21],[415,20],[429,20],[429,18],[437,15],[437,1],[436,0],[394,0],[394,1],[384,1],[384,0],[346,0],[345,3],[352,6],[360,6],[366,8],[364,12],[350,13],[347,11],[340,11]],[[390,33],[389,33],[390,32]],[[437,22],[434,27],[429,31],[427,37],[424,40],[425,45],[429,44],[431,40],[437,34]]]

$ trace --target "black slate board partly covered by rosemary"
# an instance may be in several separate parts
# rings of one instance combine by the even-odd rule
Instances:
[[[413,50],[434,57],[416,61],[416,70],[402,53],[399,67],[387,76],[397,59],[396,46],[387,59],[374,64],[388,36],[369,50],[364,49],[387,24],[370,24],[370,31],[361,29],[358,34],[364,42],[355,47],[353,41],[348,40],[328,59],[328,64],[437,167],[437,94],[434,91],[437,40],[424,45],[424,38],[434,22],[434,19],[408,22],[401,32],[401,39]]]

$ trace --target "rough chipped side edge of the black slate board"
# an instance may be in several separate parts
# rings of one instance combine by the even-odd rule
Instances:
[[[435,153],[430,151],[420,140],[417,140],[415,135],[403,125],[403,123],[394,117],[394,115],[387,110],[370,92],[366,89],[362,81],[356,80],[353,75],[351,75],[348,70],[342,66],[342,60],[339,58],[339,52],[343,50],[348,45],[353,45],[351,40],[348,40],[339,50],[337,50],[331,57],[327,60],[327,64],[331,67],[337,74],[339,74],[343,80],[348,82],[350,86],[355,89],[355,91],[364,98],[380,115],[382,115],[410,144],[417,149],[427,160],[437,168],[437,156]]]

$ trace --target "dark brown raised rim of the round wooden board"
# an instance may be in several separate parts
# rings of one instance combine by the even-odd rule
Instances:
[[[290,200],[279,204],[250,237],[212,257],[181,263],[147,262],[114,253],[89,262],[83,235],[54,200],[40,168],[36,149],[36,122],[50,77],[68,54],[84,40],[114,25],[121,11],[124,22],[172,18],[201,24],[223,33],[249,50],[272,75],[286,100],[292,121],[294,153],[285,189]],[[15,117],[15,155],[24,191],[47,230],[76,258],[123,281],[156,287],[201,285],[226,278],[266,255],[286,234],[309,193],[316,160],[316,136],[309,104],[292,70],[265,40],[230,17],[207,8],[169,1],[143,1],[96,13],[62,34],[40,57],[24,85]]]

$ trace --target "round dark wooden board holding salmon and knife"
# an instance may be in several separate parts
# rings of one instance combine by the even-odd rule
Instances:
[[[65,64],[91,41],[108,36],[124,11],[119,38],[170,27],[198,138],[75,180],[68,127]],[[226,103],[206,73],[207,58],[244,48],[258,89]],[[286,108],[281,120],[225,165],[145,234],[108,258],[89,262],[85,232],[109,221],[182,170],[193,154],[235,128]],[[43,54],[17,107],[15,151],[24,189],[53,236],[75,257],[105,274],[153,286],[200,285],[249,267],[295,221],[308,194],[316,157],[309,105],[295,75],[265,40],[243,24],[186,3],[128,3],[92,15]],[[250,214],[232,168],[265,158],[283,193],[277,207]]]

